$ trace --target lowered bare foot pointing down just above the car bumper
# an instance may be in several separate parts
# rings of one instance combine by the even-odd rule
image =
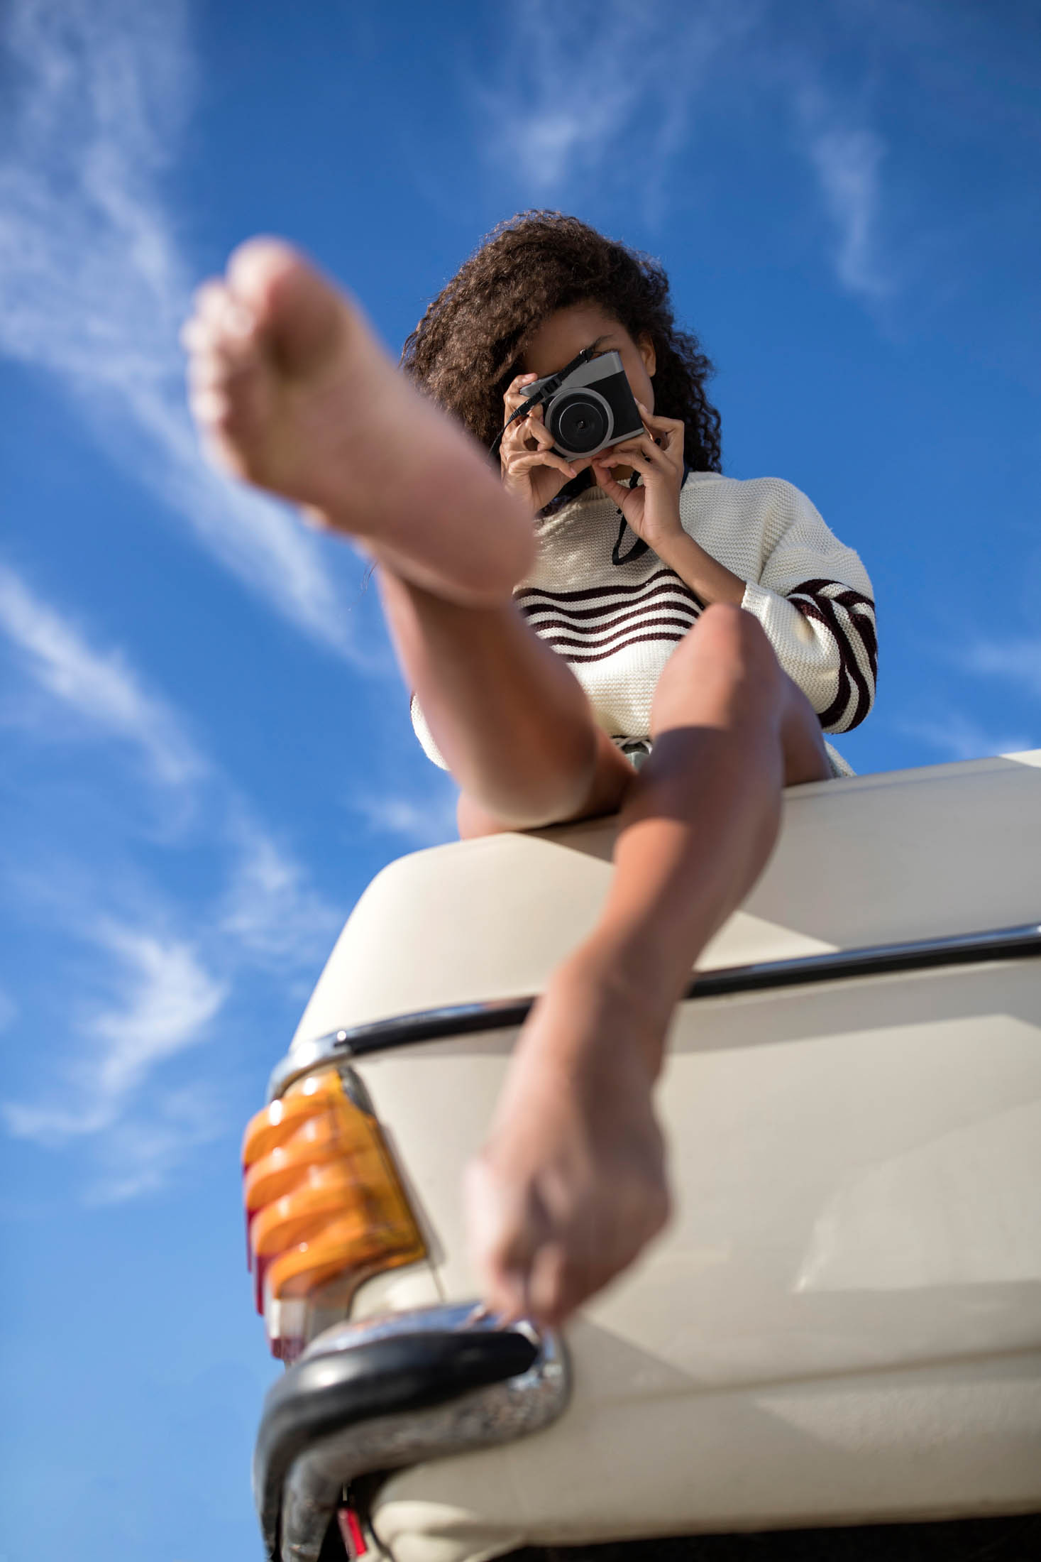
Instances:
[[[465,1186],[493,1311],[559,1325],[665,1225],[645,1023],[626,995],[573,961],[524,1028]]]

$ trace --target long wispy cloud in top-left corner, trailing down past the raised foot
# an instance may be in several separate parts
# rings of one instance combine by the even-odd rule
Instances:
[[[212,556],[354,656],[322,542],[211,472],[187,419],[192,266],[164,187],[194,92],[186,17],[183,0],[3,8],[0,351],[53,373]]]

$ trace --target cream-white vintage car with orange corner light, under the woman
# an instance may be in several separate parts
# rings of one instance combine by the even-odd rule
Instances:
[[[785,795],[673,1026],[673,1223],[557,1339],[476,1309],[459,1184],[612,836],[393,862],[275,1070],[243,1150],[290,1364],[268,1556],[755,1532],[759,1562],[791,1529],[972,1518],[988,1562],[1041,1557],[1036,1518],[980,1529],[1041,1510],[1041,751]],[[940,1554],[862,1534],[843,1557]]]

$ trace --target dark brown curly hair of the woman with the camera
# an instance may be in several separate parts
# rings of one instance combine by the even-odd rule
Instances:
[[[634,342],[651,339],[656,412],[682,419],[688,467],[718,472],[719,414],[705,395],[712,362],[698,337],[677,330],[665,269],[559,211],[523,211],[493,228],[426,309],[401,367],[487,448],[526,339],[577,303],[599,305]]]

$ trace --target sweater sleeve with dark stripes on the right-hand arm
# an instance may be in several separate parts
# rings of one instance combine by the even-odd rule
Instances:
[[[874,703],[879,653],[868,572],[791,483],[762,478],[755,487],[763,490],[763,558],[741,606],[762,623],[822,729],[847,733]]]

